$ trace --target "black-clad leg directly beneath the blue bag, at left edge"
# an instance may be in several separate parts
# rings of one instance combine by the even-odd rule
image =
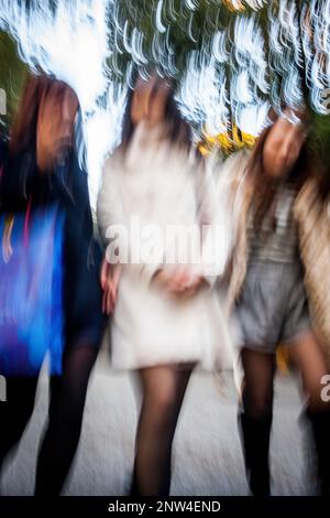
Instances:
[[[9,451],[20,441],[30,420],[37,377],[7,378],[7,401],[0,403],[0,472]]]

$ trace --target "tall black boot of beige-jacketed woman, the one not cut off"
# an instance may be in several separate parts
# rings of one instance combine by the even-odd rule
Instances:
[[[253,496],[271,495],[268,457],[272,418],[272,414],[256,419],[246,412],[239,413],[246,476]]]

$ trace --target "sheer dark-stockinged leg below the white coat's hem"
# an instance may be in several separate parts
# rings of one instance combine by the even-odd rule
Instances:
[[[131,495],[169,494],[172,443],[191,369],[172,365],[140,371],[143,402]]]

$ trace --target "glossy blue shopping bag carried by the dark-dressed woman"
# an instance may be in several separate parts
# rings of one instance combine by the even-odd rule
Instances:
[[[64,217],[57,206],[0,216],[0,375],[62,371]]]

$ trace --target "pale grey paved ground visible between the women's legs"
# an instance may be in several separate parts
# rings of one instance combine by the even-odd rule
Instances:
[[[2,495],[32,493],[37,440],[46,411],[45,376],[40,385],[33,418],[18,452],[3,470]],[[297,380],[277,378],[272,442],[274,495],[312,494],[310,458],[307,462],[305,458],[306,433],[297,424],[300,408]],[[132,380],[128,375],[111,373],[102,355],[91,379],[81,442],[64,494],[125,494],[135,422]],[[232,380],[195,373],[175,440],[172,493],[245,495],[246,492]]]

